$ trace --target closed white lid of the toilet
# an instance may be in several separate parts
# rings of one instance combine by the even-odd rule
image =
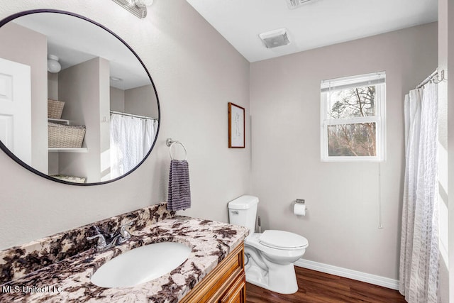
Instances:
[[[299,249],[309,244],[303,236],[289,231],[264,231],[258,241],[265,246],[278,249]]]

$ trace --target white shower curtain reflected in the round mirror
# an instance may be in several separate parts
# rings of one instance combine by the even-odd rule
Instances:
[[[111,114],[111,178],[133,170],[155,141],[157,120]]]

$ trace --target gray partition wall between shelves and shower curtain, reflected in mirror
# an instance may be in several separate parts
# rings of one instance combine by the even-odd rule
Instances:
[[[62,175],[87,177],[87,182],[100,182],[103,177],[101,153],[109,150],[110,131],[101,116],[109,117],[109,74],[109,61],[98,57],[58,75],[58,99],[65,101],[62,119],[86,127],[82,146],[88,148],[88,153],[60,153]]]

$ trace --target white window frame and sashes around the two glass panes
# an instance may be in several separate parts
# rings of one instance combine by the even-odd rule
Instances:
[[[365,81],[366,79],[366,81]],[[369,80],[367,80],[369,79]],[[341,87],[341,89],[375,86],[375,116],[354,117],[350,119],[335,119],[329,116],[328,95],[331,90],[326,87]],[[333,89],[336,91],[339,89]],[[384,162],[386,161],[386,74],[375,72],[372,74],[358,75],[323,80],[321,82],[321,161],[322,162]],[[376,123],[375,156],[334,156],[328,155],[328,126],[348,125],[357,123]]]

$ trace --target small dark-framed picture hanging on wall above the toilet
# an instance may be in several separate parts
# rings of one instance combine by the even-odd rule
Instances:
[[[228,102],[228,148],[245,148],[245,109]]]

